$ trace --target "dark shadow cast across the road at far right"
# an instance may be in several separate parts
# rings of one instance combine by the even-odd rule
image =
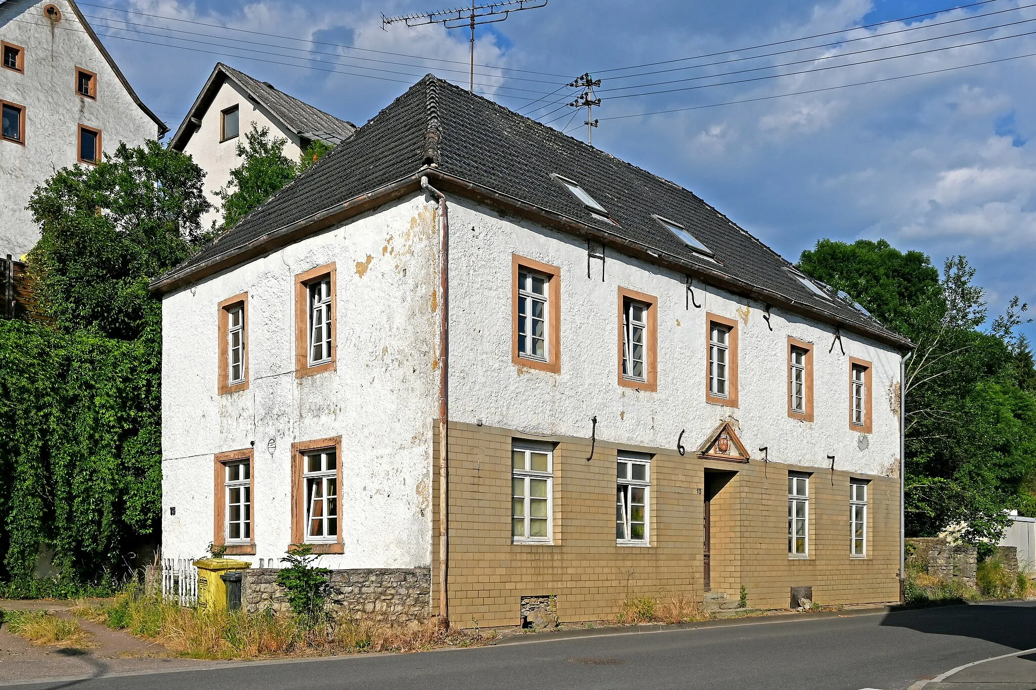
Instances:
[[[932,635],[974,637],[1015,650],[1036,648],[1036,605],[1031,602],[894,611],[881,625]]]

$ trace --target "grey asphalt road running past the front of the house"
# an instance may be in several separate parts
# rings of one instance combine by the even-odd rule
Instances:
[[[894,690],[972,661],[1032,648],[1036,602],[1025,602],[779,622],[755,619],[698,629],[529,635],[469,650],[259,662],[19,687]]]

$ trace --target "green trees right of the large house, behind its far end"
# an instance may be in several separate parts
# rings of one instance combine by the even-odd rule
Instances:
[[[1002,530],[1005,509],[1031,510],[1036,397],[1019,385],[1025,343],[1013,335],[1026,305],[1013,300],[982,330],[984,292],[963,257],[940,273],[923,253],[884,240],[821,240],[799,266],[917,346],[905,382],[909,532],[966,523],[974,541]]]

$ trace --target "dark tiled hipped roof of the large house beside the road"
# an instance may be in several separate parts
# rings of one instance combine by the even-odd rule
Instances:
[[[792,264],[693,192],[431,74],[171,273],[190,273],[233,254],[265,235],[414,175],[429,162],[448,175],[674,257],[702,273],[719,274],[746,292],[777,293],[803,312],[824,312],[906,344],[835,295],[814,294],[799,281]],[[617,226],[592,215],[551,175],[577,182]],[[713,250],[716,262],[692,251],[653,214],[684,226]]]

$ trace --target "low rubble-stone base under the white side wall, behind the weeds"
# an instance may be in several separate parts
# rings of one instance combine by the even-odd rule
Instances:
[[[277,568],[250,568],[241,582],[241,605],[250,612],[290,611]],[[370,568],[330,571],[329,603],[340,613],[381,623],[428,620],[431,573],[428,568]]]

